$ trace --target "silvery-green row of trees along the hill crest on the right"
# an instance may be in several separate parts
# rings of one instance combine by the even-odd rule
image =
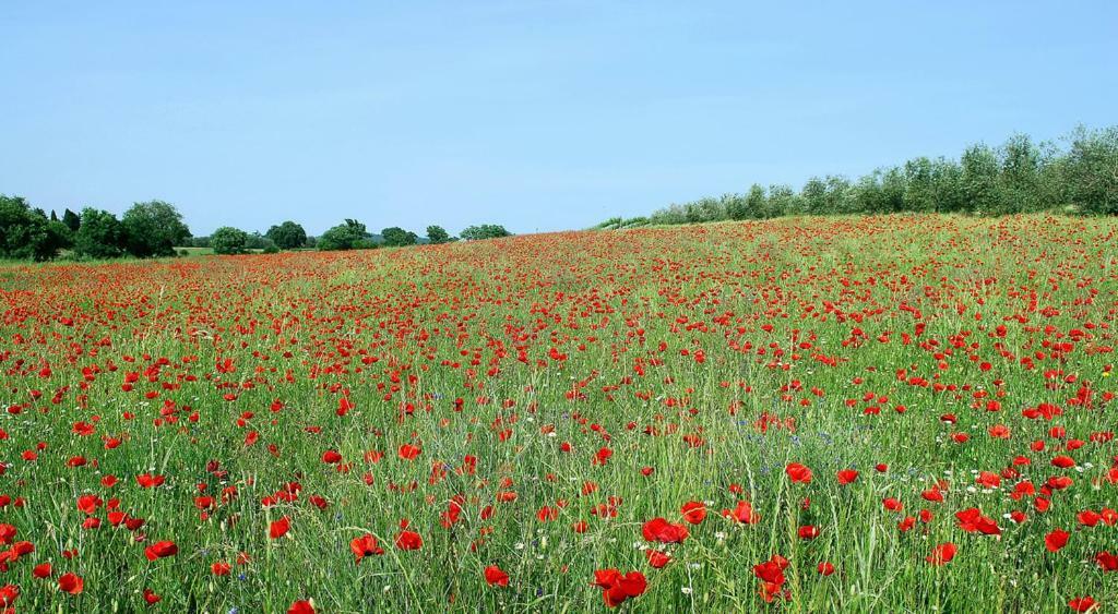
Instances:
[[[1059,142],[1011,136],[999,147],[972,145],[958,160],[926,156],[851,181],[813,176],[799,191],[755,183],[746,193],[671,204],[648,217],[613,218],[595,228],[634,228],[781,215],[966,213],[1003,215],[1062,210],[1118,214],[1118,126],[1079,127]]]

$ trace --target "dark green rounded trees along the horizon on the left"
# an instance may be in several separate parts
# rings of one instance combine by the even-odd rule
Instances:
[[[277,252],[293,249],[348,250],[404,247],[417,243],[447,243],[509,237],[502,226],[471,226],[452,237],[440,226],[428,226],[426,237],[402,228],[386,228],[373,234],[357,220],[345,220],[321,237],[311,237],[294,221],[271,227],[267,232],[246,232],[221,227],[209,237],[192,237],[173,204],[154,200],[133,204],[121,218],[108,211],[85,208],[55,211],[32,208],[21,196],[0,194],[0,258],[51,260],[59,256],[75,260],[122,257],[152,258],[189,253],[179,248],[210,248],[215,253],[249,251]]]

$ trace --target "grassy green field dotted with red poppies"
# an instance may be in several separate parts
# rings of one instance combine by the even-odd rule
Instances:
[[[9,612],[1107,612],[1118,222],[0,268]]]

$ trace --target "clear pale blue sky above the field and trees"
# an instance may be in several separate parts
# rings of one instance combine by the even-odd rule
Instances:
[[[3,1],[0,192],[533,232],[1118,124],[1115,2],[779,4]]]

